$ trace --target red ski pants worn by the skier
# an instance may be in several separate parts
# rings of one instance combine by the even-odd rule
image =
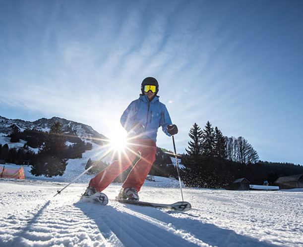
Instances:
[[[131,165],[137,152],[139,152],[141,158],[130,170],[125,182],[122,184],[122,188],[133,187],[137,191],[140,191],[156,159],[156,150],[157,147],[154,140],[139,138],[132,140],[131,145],[125,149],[125,154],[121,154],[119,160],[114,161],[110,166],[92,178],[89,186],[94,187],[97,191],[103,191]]]

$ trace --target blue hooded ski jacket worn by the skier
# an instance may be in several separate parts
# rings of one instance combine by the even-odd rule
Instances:
[[[167,132],[167,126],[172,124],[172,120],[165,104],[160,102],[158,96],[149,101],[146,95],[140,95],[139,99],[128,105],[121,116],[121,124],[129,132],[133,123],[140,123],[143,126],[140,138],[152,139],[156,142],[160,126],[166,135],[171,136]]]

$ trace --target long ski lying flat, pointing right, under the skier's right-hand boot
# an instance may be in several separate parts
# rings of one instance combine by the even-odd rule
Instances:
[[[178,201],[173,204],[162,204],[162,203],[153,203],[146,201],[127,200],[127,199],[116,199],[116,201],[119,201],[121,203],[138,205],[138,206],[167,208],[181,212],[185,212],[191,209],[191,205],[187,201]]]

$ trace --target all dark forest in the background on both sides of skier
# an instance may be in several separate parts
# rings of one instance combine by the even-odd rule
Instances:
[[[37,130],[14,131],[8,137],[10,142],[25,141],[23,148],[9,148],[0,145],[0,163],[32,165],[32,174],[47,177],[62,175],[69,158],[81,158],[85,150],[92,148],[76,136],[65,136],[59,122],[49,132]],[[250,184],[261,185],[268,181],[273,185],[282,176],[302,174],[303,166],[292,163],[273,163],[259,160],[257,151],[243,137],[226,137],[218,127],[208,121],[201,129],[196,123],[188,133],[186,153],[178,154],[181,178],[187,187],[229,188],[238,178],[246,178]],[[69,142],[69,146],[66,145]],[[38,148],[34,152],[31,148]],[[140,158],[138,153],[132,165],[115,181],[122,182],[131,167]],[[177,176],[175,156],[172,151],[157,148],[156,160],[149,172],[152,176]],[[89,159],[86,169],[93,165],[90,173],[98,173],[109,164]]]

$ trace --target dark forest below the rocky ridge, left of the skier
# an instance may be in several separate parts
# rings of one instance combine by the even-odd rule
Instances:
[[[0,145],[0,163],[32,165],[31,173],[36,176],[53,177],[63,175],[69,158],[81,158],[85,150],[92,149],[91,143],[85,143],[76,136],[66,136],[60,122],[55,122],[49,132],[35,129],[20,132],[15,130],[8,135],[11,143],[25,141],[23,148],[9,148]],[[66,142],[70,145],[67,146]],[[31,150],[38,148],[38,153]]]

